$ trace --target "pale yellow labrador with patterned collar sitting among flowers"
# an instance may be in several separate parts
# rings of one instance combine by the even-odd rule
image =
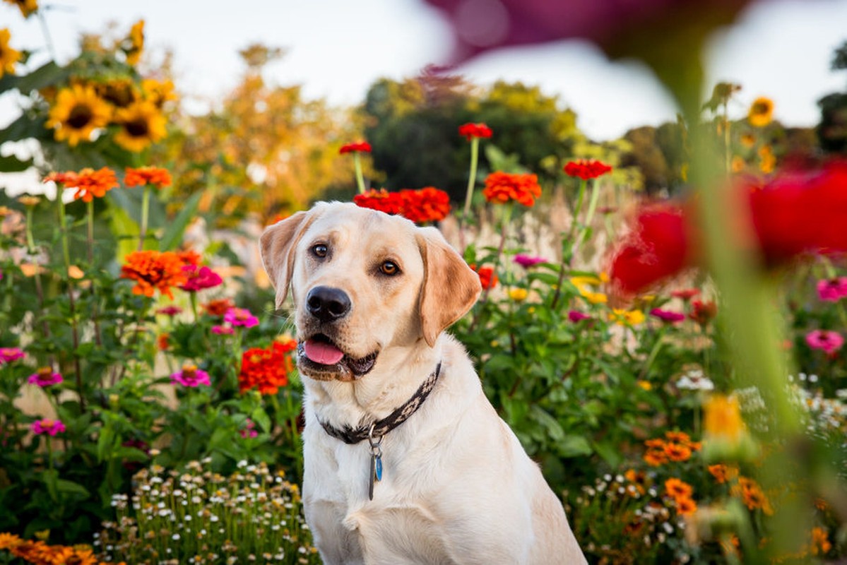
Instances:
[[[584,563],[562,510],[444,330],[479,277],[435,228],[318,203],[264,231],[304,375],[303,504],[328,565]]]

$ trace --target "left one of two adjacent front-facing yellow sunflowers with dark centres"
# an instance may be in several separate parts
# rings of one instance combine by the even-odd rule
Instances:
[[[56,129],[56,141],[67,140],[76,147],[80,141],[89,141],[93,130],[107,125],[109,114],[108,104],[91,86],[74,85],[59,91],[47,127]]]

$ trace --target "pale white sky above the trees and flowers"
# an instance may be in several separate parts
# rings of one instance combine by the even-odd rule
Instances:
[[[552,1],[552,0],[551,0]],[[284,47],[285,58],[268,66],[268,80],[303,86],[307,97],[336,105],[363,101],[374,80],[417,75],[425,65],[445,63],[451,31],[440,13],[419,0],[55,0],[43,2],[47,29],[59,62],[78,52],[82,32],[101,32],[108,22],[126,32],[145,19],[152,61],[174,52],[177,89],[190,108],[208,108],[237,84],[243,64],[238,50],[253,42]],[[773,0],[742,14],[713,37],[706,63],[710,83],[743,86],[730,114],[743,116],[759,96],[775,102],[787,125],[817,122],[817,99],[847,89],[847,73],[829,70],[835,47],[847,41],[847,0]],[[0,3],[0,28],[11,44],[37,50],[32,64],[47,59],[36,18]],[[610,63],[586,42],[503,49],[457,68],[473,82],[521,80],[558,96],[578,114],[580,129],[595,140],[623,135],[638,125],[673,119],[670,98],[633,62]],[[0,96],[0,126],[15,114]]]

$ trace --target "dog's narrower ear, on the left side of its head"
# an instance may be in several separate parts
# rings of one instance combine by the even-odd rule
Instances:
[[[297,212],[273,225],[268,225],[259,238],[262,265],[270,284],[276,290],[276,307],[280,308],[288,295],[288,285],[294,274],[294,249],[303,232],[313,222],[312,212]]]

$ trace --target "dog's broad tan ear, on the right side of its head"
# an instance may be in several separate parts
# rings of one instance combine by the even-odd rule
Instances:
[[[432,347],[443,330],[471,309],[482,285],[479,275],[468,267],[439,230],[421,229],[418,246],[424,258],[424,286],[418,307],[424,340]]]

